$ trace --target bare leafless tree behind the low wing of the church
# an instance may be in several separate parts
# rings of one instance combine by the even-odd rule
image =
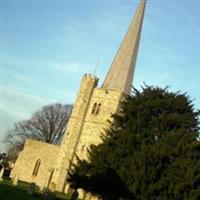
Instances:
[[[16,123],[5,138],[9,158],[16,158],[26,139],[59,144],[71,111],[72,105],[51,104],[42,107],[30,119]]]

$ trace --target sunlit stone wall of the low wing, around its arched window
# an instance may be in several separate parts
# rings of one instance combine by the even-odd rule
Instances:
[[[19,176],[19,180],[36,183],[37,186],[43,188],[49,180],[49,169],[55,167],[55,160],[58,156],[59,148],[34,140],[26,140],[24,149],[20,152],[15,166],[11,172],[11,177]],[[33,176],[35,163],[41,159],[38,175]]]

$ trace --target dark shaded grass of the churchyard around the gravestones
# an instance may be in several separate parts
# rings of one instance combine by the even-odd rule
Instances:
[[[41,192],[37,191],[32,196],[27,194],[28,184],[19,182],[17,186],[12,185],[10,179],[0,182],[0,200],[41,200]],[[66,200],[69,196],[56,193],[56,200]]]

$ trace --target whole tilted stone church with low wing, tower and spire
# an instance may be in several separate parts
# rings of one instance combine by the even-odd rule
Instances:
[[[76,155],[87,159],[91,144],[101,143],[108,120],[119,109],[124,94],[130,94],[144,18],[146,0],[141,0],[102,86],[85,74],[64,138],[59,146],[26,140],[11,177],[35,183],[40,189],[67,191],[67,172]]]

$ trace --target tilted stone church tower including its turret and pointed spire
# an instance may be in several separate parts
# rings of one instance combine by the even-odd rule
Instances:
[[[102,142],[100,136],[109,127],[108,120],[118,110],[123,95],[130,94],[145,4],[141,0],[102,87],[97,87],[95,76],[85,74],[82,78],[51,180],[58,191],[66,185],[70,161],[75,161],[75,155],[87,159],[87,148]]]

